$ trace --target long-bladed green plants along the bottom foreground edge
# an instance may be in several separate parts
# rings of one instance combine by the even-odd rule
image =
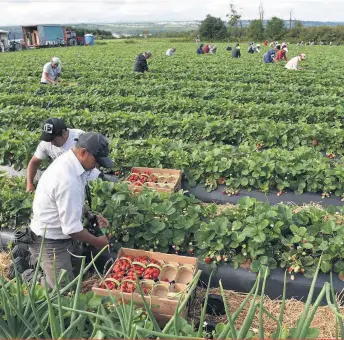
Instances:
[[[38,263],[41,261],[41,254],[44,241],[41,245]],[[98,255],[99,256],[99,255]],[[110,295],[106,298],[94,296],[92,293],[81,293],[84,274],[90,269],[97,256],[87,266],[85,258],[82,258],[80,274],[66,286],[62,288],[62,282],[66,272],[62,272],[60,277],[55,275],[56,285],[52,291],[37,284],[39,266],[37,266],[31,284],[21,284],[19,274],[16,271],[16,278],[5,283],[0,277],[0,337],[1,338],[176,338],[176,339],[199,339],[206,337],[204,320],[209,294],[211,276],[206,291],[205,303],[202,308],[199,328],[194,329],[193,323],[190,324],[180,316],[190,301],[196,289],[201,272],[198,271],[194,279],[190,282],[188,290],[181,296],[177,309],[170,321],[161,328],[155,319],[149,304],[144,299],[142,289],[139,292],[142,297],[143,308],[137,309],[133,299],[125,304],[123,298],[117,299]],[[335,299],[333,285],[325,283],[316,301],[311,306],[314,295],[314,286],[317,280],[320,263],[316,269],[316,275],[310,287],[309,295],[304,310],[297,322],[296,328],[286,328],[283,324],[283,314],[286,296],[286,278],[284,282],[283,296],[280,315],[274,317],[264,307],[264,290],[268,271],[258,273],[257,280],[252,290],[247,295],[239,308],[231,313],[229,311],[224,295],[222,283],[220,281],[220,291],[225,301],[225,311],[227,315],[226,323],[219,323],[213,332],[215,339],[243,339],[253,338],[255,335],[251,331],[253,320],[258,312],[259,317],[259,338],[268,336],[264,331],[263,316],[276,322],[276,329],[273,334],[269,334],[274,339],[306,337],[315,338],[319,335],[319,330],[311,328],[310,324],[314,315],[326,296],[331,310],[337,318],[337,338],[339,331],[343,338],[343,315],[340,314],[338,304]],[[99,274],[100,280],[104,278]],[[45,278],[45,277],[44,277]],[[260,298],[258,298],[260,294]],[[246,317],[240,326],[235,326],[235,321],[244,309],[247,309]],[[148,317],[146,317],[146,315]]]

